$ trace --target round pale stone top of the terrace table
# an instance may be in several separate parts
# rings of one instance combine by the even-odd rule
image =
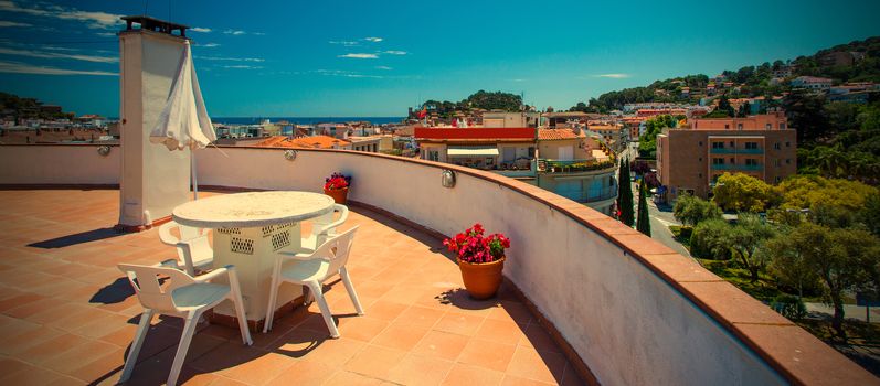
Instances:
[[[248,192],[190,201],[174,208],[176,222],[199,228],[256,228],[300,222],[333,211],[333,199],[310,192]]]

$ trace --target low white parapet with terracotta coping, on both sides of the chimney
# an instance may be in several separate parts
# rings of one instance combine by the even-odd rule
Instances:
[[[57,147],[0,147],[2,184],[86,181],[109,168],[76,147],[79,168],[40,169]],[[319,192],[353,175],[349,199],[438,234],[480,222],[512,240],[505,275],[564,340],[575,366],[607,385],[874,384],[870,373],[696,262],[582,204],[491,172],[341,150],[195,152],[203,187]],[[11,162],[11,161],[23,161]],[[91,167],[89,163],[94,163]],[[118,163],[116,164],[118,171]],[[12,171],[39,170],[39,173]],[[109,170],[109,169],[108,169]],[[443,170],[457,174],[441,184]],[[28,176],[28,178],[25,178]],[[15,179],[23,180],[15,180]],[[106,183],[106,181],[100,181]],[[586,369],[589,368],[589,371]]]

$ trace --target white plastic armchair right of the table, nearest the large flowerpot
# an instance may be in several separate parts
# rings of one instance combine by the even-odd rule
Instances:
[[[354,310],[359,315],[363,314],[363,308],[358,300],[358,293],[354,292],[354,287],[351,285],[351,278],[346,270],[346,262],[348,262],[349,254],[351,253],[351,245],[354,240],[354,232],[358,227],[353,227],[340,235],[330,237],[327,242],[321,244],[314,253],[280,253],[276,255],[275,267],[272,272],[272,287],[269,288],[269,303],[266,311],[266,322],[263,326],[263,332],[272,330],[272,321],[275,315],[275,302],[278,297],[278,286],[283,282],[291,282],[295,285],[307,286],[309,293],[318,301],[318,308],[321,309],[324,322],[327,329],[330,330],[330,336],[339,337],[339,330],[333,323],[333,315],[330,313],[330,308],[327,305],[327,300],[324,298],[321,283],[337,272],[342,278],[346,285],[351,302],[354,303]],[[295,261],[289,261],[295,260]]]

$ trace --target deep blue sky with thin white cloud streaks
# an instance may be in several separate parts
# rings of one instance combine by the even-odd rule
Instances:
[[[170,7],[169,7],[170,6]],[[195,28],[212,116],[402,116],[524,93],[543,109],[880,35],[880,1],[0,1],[0,90],[118,116],[118,15]]]

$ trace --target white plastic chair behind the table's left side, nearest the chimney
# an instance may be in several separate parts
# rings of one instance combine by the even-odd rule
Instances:
[[[171,233],[174,228],[178,229],[180,237]],[[178,269],[183,269],[190,276],[194,276],[197,268],[211,268],[214,262],[214,250],[211,249],[211,243],[208,240],[209,230],[180,225],[171,221],[159,227],[159,238],[162,243],[177,247]],[[180,245],[183,242],[189,242],[189,250]]]

